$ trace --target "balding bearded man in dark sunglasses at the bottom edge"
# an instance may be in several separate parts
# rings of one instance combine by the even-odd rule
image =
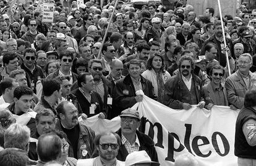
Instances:
[[[82,165],[112,165],[121,166],[124,162],[116,159],[119,146],[121,144],[121,138],[117,133],[104,132],[95,136],[95,146],[97,148],[98,157],[93,159],[80,159],[77,162],[77,166]]]

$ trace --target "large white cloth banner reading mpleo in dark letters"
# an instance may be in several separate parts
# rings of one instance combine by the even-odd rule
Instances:
[[[140,112],[140,130],[155,141],[161,165],[174,165],[177,156],[190,152],[200,166],[237,166],[234,134],[239,111],[227,106],[214,106],[211,111],[196,106],[188,111],[174,110],[147,96],[133,108]],[[103,127],[104,131],[116,132],[120,127],[119,118],[109,121],[95,117],[87,120],[95,132]],[[98,122],[102,121],[112,125],[100,126]]]

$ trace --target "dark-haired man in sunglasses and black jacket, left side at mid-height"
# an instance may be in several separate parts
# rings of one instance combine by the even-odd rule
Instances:
[[[41,69],[40,66],[36,65],[35,58],[36,58],[36,52],[32,48],[27,48],[24,50],[24,60],[22,65],[20,65],[20,68],[25,70],[27,73],[27,84],[28,87],[31,87],[31,89],[36,93],[36,82],[39,79],[43,79],[43,69]]]

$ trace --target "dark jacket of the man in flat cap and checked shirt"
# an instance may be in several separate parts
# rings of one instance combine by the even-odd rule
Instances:
[[[117,131],[117,134],[121,137],[121,129]],[[140,149],[139,151],[146,151],[148,156],[150,156],[151,160],[154,162],[158,162],[158,156],[155,149],[155,143],[154,141],[148,136],[145,135],[142,132],[136,131],[136,134],[138,136],[138,139],[140,141]],[[124,144],[121,143],[121,146],[119,148],[118,154],[116,156],[117,160],[125,161],[126,157],[128,155],[128,152],[126,150],[126,147]]]

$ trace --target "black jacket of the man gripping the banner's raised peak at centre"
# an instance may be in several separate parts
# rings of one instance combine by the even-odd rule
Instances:
[[[147,95],[147,97],[155,99],[152,83],[142,76],[140,76],[140,82],[144,94]],[[135,103],[137,103],[135,97],[134,84],[132,83],[130,74],[128,74],[123,79],[117,81],[114,87],[113,103],[114,106],[116,106],[115,115],[118,116],[124,109],[134,106]]]

